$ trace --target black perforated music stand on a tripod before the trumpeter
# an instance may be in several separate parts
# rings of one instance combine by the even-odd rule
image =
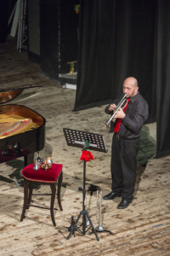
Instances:
[[[84,150],[87,151],[87,149],[92,149],[95,151],[99,152],[105,152],[107,153],[107,149],[105,148],[105,141],[104,137],[95,134],[95,133],[90,133],[86,131],[76,131],[76,130],[71,130],[67,128],[63,128],[64,134],[65,134],[65,139],[67,142],[68,146],[72,147],[77,147],[77,148],[83,148]],[[82,191],[82,212],[78,215],[78,218],[74,224],[71,224],[70,227],[70,234],[67,236],[67,240],[70,239],[71,234],[74,234],[75,230],[78,230],[79,232],[82,233],[82,235],[85,235],[86,232],[92,227],[93,233],[96,236],[97,241],[99,241],[99,236],[97,235],[96,230],[94,229],[94,225],[92,224],[91,219],[88,216],[88,211],[85,210],[85,199],[86,199],[86,189],[85,189],[85,180],[86,180],[86,161],[83,160],[83,189],[79,188],[79,191]],[[82,216],[82,230],[77,228],[77,223],[79,218]],[[88,218],[88,221],[90,223],[90,227],[88,227],[88,230],[86,230],[86,217]]]

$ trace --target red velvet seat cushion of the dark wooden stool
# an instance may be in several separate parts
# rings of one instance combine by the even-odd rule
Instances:
[[[22,171],[22,175],[28,180],[42,183],[55,183],[63,167],[59,164],[53,164],[48,171],[44,171],[42,167],[40,167],[40,170],[34,171],[33,166],[34,164],[26,166]]]

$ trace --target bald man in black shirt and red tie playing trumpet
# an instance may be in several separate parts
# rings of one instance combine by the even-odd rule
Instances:
[[[121,108],[115,115],[111,148],[112,191],[104,196],[104,200],[122,197],[118,209],[127,208],[133,201],[140,132],[149,114],[148,104],[139,93],[137,79],[125,79],[122,89],[122,96],[105,108],[105,113],[113,114],[116,105],[127,94],[127,107]]]

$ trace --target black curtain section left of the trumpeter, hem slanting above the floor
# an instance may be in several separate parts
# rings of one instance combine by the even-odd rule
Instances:
[[[115,1],[81,1],[75,110],[111,101],[114,12]]]

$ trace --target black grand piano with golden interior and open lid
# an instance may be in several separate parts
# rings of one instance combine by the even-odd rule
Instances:
[[[33,162],[34,153],[44,147],[45,119],[31,108],[14,104],[37,90],[41,87],[0,91],[0,163],[24,156],[27,166],[28,155]]]

